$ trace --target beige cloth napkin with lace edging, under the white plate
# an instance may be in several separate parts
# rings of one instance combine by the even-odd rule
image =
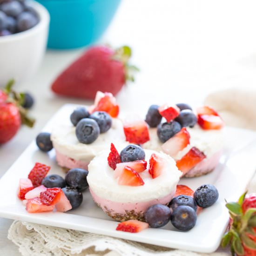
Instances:
[[[210,94],[205,103],[219,111],[229,126],[256,129],[256,91],[233,88]],[[256,192],[256,176],[249,185]],[[14,221],[8,238],[19,246],[23,256],[206,256],[39,224]],[[226,256],[218,250],[211,256]]]

